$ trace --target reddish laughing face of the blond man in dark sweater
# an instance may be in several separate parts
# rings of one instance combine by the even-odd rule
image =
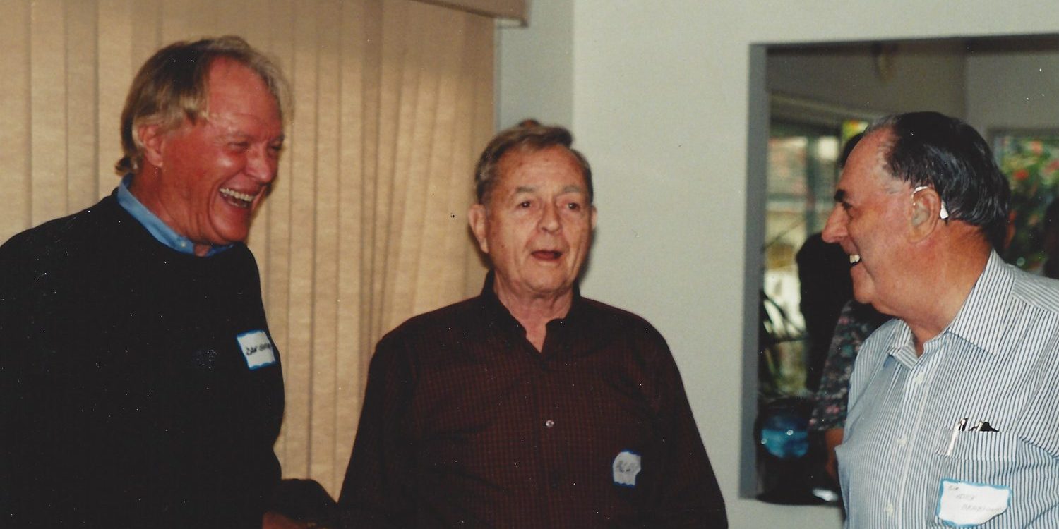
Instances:
[[[208,116],[168,132],[145,128],[145,160],[157,171],[137,176],[131,188],[198,255],[246,240],[283,146],[279,106],[256,73],[221,58],[208,83]]]

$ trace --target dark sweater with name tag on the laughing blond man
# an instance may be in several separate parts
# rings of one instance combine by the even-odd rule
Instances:
[[[113,197],[13,237],[0,527],[261,527],[284,405],[269,336],[243,244],[178,253]]]

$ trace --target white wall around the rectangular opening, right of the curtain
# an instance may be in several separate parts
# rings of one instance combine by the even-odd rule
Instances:
[[[764,85],[764,65],[751,70],[751,44],[1059,32],[1059,11],[1023,0],[532,4],[528,29],[501,32],[500,86],[520,90],[517,102],[501,90],[499,121],[560,120],[566,97],[572,102],[569,124],[597,175],[599,208],[584,292],[644,315],[669,341],[732,527],[838,527],[836,509],[738,495],[740,406],[753,402],[742,381],[754,377],[744,372],[752,364],[743,362],[743,291],[748,277],[760,276],[746,270],[754,253],[746,248],[748,193],[758,184],[748,181],[748,166],[758,163],[748,139],[752,127],[765,133],[749,111],[751,75]],[[540,56],[564,40],[552,32],[569,24],[571,4],[568,81],[552,76],[553,66],[564,71],[566,55],[559,65]]]

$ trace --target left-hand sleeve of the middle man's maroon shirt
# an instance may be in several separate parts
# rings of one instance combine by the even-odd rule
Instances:
[[[376,347],[364,405],[345,471],[339,509],[343,527],[414,527],[413,450],[406,418],[412,368],[392,335]]]

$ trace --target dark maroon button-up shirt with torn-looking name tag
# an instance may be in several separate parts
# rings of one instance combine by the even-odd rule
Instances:
[[[349,528],[726,527],[662,335],[575,290],[537,351],[491,273],[379,342],[339,504]]]

